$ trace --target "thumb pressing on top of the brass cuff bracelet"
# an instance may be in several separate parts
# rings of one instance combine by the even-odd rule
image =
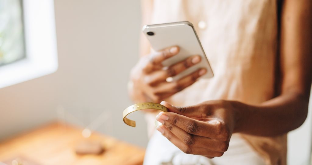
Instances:
[[[198,112],[201,109],[197,105],[195,106],[173,106],[166,101],[162,101],[160,102],[160,104],[167,107],[169,112],[174,112],[174,113],[187,116],[187,117],[197,117]]]

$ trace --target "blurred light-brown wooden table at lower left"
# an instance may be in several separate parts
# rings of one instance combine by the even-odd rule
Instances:
[[[20,158],[23,165],[139,165],[145,150],[112,137],[92,133],[87,140],[104,146],[100,155],[77,155],[75,146],[83,140],[82,129],[52,123],[0,143],[0,162],[12,164]],[[25,163],[27,162],[27,163]],[[1,164],[1,163],[0,163]]]

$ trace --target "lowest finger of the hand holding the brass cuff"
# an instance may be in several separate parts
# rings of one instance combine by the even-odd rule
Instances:
[[[192,147],[183,143],[183,141],[181,141],[176,135],[170,132],[164,125],[160,125],[156,129],[161,132],[163,136],[165,136],[171,143],[181,149],[184,153],[206,155],[210,157],[220,157],[223,155],[222,152],[212,151],[210,149],[205,149],[201,147]]]

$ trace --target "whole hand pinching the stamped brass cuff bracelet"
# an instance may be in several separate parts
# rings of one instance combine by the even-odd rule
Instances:
[[[176,107],[162,101],[169,112],[156,119],[163,125],[156,129],[184,153],[220,157],[237,130],[240,113],[236,101],[206,101],[195,106]]]

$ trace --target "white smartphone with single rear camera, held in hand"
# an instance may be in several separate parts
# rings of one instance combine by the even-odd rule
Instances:
[[[170,46],[179,46],[180,52],[163,61],[164,66],[170,66],[191,55],[200,55],[202,60],[200,63],[184,70],[182,73],[173,77],[174,80],[180,79],[199,68],[206,68],[207,72],[200,78],[212,78],[213,72],[206,57],[202,45],[198,39],[196,31],[192,23],[188,21],[172,22],[155,25],[145,25],[143,32],[148,38],[152,48],[160,51]]]

